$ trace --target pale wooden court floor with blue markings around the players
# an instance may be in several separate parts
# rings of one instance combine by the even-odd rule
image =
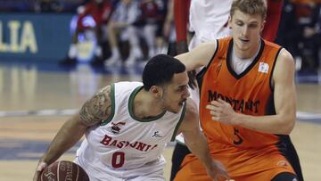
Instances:
[[[96,74],[85,65],[70,71],[0,66],[0,181],[31,180],[37,159],[69,117],[63,114],[77,110],[99,87],[119,80],[140,80],[137,71],[126,71],[123,76],[123,70]],[[321,86],[299,84],[297,94],[298,111],[321,114]],[[321,118],[310,120],[298,120],[291,136],[305,179],[320,181]],[[62,160],[73,160],[75,149]],[[167,180],[171,152],[170,146],[164,152]]]

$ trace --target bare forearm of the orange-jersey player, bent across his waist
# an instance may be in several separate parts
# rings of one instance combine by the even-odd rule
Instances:
[[[271,115],[271,116],[250,116],[236,113],[236,125],[251,130],[276,134],[289,135],[295,124],[295,114],[288,113],[287,115]]]

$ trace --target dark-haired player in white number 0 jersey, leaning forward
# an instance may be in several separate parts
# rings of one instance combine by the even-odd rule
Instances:
[[[164,180],[161,152],[180,132],[211,179],[228,178],[223,165],[210,157],[187,83],[182,62],[157,55],[144,68],[143,84],[103,87],[59,130],[39,160],[34,181],[84,134],[75,161],[91,181]]]

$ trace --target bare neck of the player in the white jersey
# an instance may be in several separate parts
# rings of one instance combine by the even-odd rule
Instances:
[[[155,100],[147,91],[142,89],[134,98],[134,114],[139,119],[149,119],[157,117],[163,110],[157,100]]]

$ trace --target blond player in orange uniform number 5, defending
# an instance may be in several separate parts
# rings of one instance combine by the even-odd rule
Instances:
[[[297,180],[284,146],[295,120],[294,62],[260,37],[266,12],[264,0],[235,0],[228,19],[232,37],[177,56],[187,70],[205,66],[198,79],[202,128],[211,156],[236,181]],[[200,163],[185,157],[175,180],[210,180]]]

